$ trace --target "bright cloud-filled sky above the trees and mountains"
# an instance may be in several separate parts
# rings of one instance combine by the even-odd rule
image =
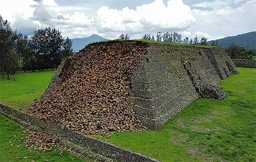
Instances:
[[[19,33],[51,27],[63,37],[178,32],[208,40],[256,31],[256,0],[0,0],[0,15]]]

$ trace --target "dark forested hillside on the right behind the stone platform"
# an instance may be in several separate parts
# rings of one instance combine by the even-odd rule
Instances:
[[[227,49],[229,44],[237,44],[246,50],[256,50],[256,31],[249,32],[245,34],[240,34],[237,36],[230,36],[222,39],[217,39],[218,45],[222,48]],[[212,41],[207,43],[210,45]]]

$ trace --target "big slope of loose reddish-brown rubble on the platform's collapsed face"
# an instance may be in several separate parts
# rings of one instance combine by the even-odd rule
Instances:
[[[28,112],[84,134],[145,128],[129,99],[132,74],[145,48],[135,41],[88,45],[66,59],[60,85]]]

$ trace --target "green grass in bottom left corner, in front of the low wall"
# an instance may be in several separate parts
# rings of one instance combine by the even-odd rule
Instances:
[[[60,156],[60,150],[58,148],[53,148],[53,151],[35,151],[33,149],[30,151],[25,147],[24,143],[18,142],[18,140],[27,134],[23,135],[23,129],[20,125],[3,115],[0,115],[0,128],[0,161],[84,161],[67,151],[63,151],[62,156]],[[18,138],[18,140],[15,140],[15,138]]]

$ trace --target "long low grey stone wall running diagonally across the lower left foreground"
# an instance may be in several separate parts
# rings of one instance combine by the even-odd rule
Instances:
[[[145,155],[123,149],[116,145],[86,136],[71,130],[61,129],[59,126],[41,121],[32,115],[18,111],[0,103],[0,113],[27,127],[39,128],[52,132],[64,146],[71,147],[74,151],[82,153],[99,161],[124,161],[124,162],[159,162]]]

